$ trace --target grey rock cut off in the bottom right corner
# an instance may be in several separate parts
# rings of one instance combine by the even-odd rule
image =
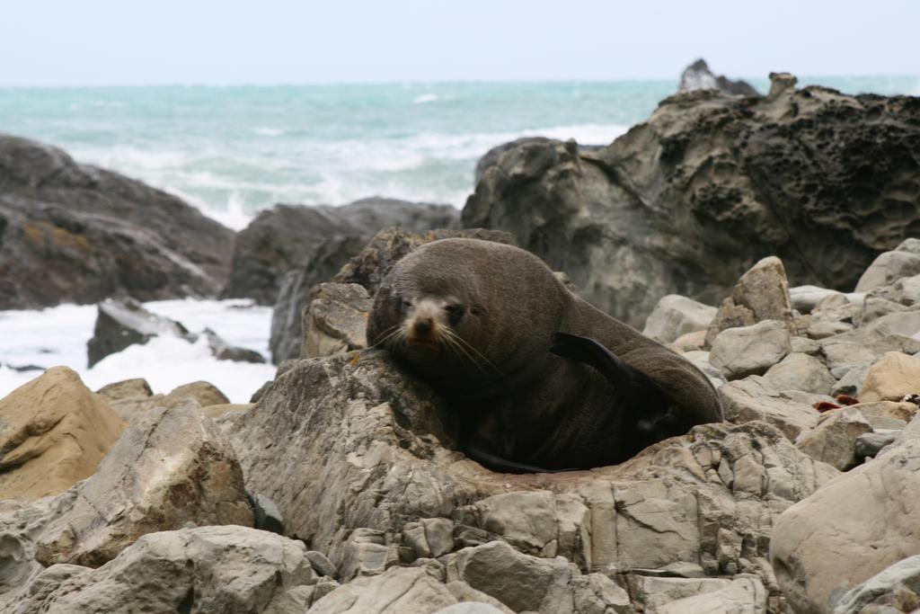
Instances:
[[[847,591],[834,614],[885,614],[920,609],[920,555],[899,561]]]

